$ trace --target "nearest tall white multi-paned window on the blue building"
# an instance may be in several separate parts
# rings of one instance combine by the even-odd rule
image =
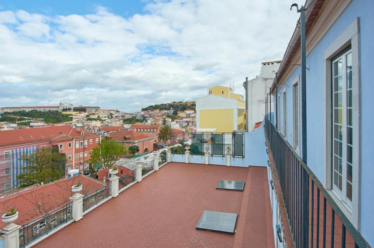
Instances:
[[[332,190],[352,208],[352,50],[332,60]]]

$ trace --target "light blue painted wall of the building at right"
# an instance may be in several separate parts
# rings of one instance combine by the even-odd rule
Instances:
[[[373,115],[373,90],[372,71],[374,64],[374,1],[353,0],[330,30],[325,34],[319,44],[307,56],[307,158],[308,166],[316,174],[320,181],[324,179],[324,59],[323,52],[336,37],[345,30],[357,17],[360,18],[361,38],[361,230],[362,236],[374,245],[373,225],[374,215],[374,173],[373,161],[374,151],[370,145],[374,139],[374,115]],[[297,67],[292,75],[286,80],[288,87],[283,85],[280,92],[287,91],[287,140],[292,140],[292,80],[300,75],[301,69]],[[301,96],[300,96],[301,102]],[[281,94],[281,106],[283,95]],[[281,121],[283,124],[283,109],[280,108]],[[300,124],[301,126],[301,124]],[[300,134],[301,136],[301,134]],[[301,137],[300,137],[301,138]]]

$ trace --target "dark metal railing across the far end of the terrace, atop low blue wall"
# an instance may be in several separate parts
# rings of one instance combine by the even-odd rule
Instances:
[[[185,146],[190,146],[191,155],[204,155],[205,148],[209,148],[211,156],[222,156],[226,154],[229,147],[233,157],[244,157],[244,133],[197,133],[197,132],[174,132],[172,136],[172,154],[184,154]]]

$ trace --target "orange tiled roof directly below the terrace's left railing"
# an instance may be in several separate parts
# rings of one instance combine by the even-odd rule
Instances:
[[[17,190],[14,193],[0,198],[1,215],[5,214],[11,207],[18,211],[18,219],[15,221],[18,225],[23,225],[32,221],[46,212],[61,208],[64,204],[70,202],[69,197],[73,194],[71,186],[81,182],[83,189],[81,194],[91,193],[98,188],[104,188],[105,185],[92,178],[79,175],[72,178],[64,179],[50,184],[38,185],[25,190]],[[38,203],[39,202],[39,203]],[[43,213],[38,210],[43,209]],[[0,228],[6,226],[0,223]]]

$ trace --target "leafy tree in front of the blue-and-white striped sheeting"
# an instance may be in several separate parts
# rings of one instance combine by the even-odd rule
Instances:
[[[17,176],[19,188],[48,183],[65,175],[66,158],[54,150],[55,147],[42,148],[34,154],[24,154],[19,158],[25,163],[22,173]]]

